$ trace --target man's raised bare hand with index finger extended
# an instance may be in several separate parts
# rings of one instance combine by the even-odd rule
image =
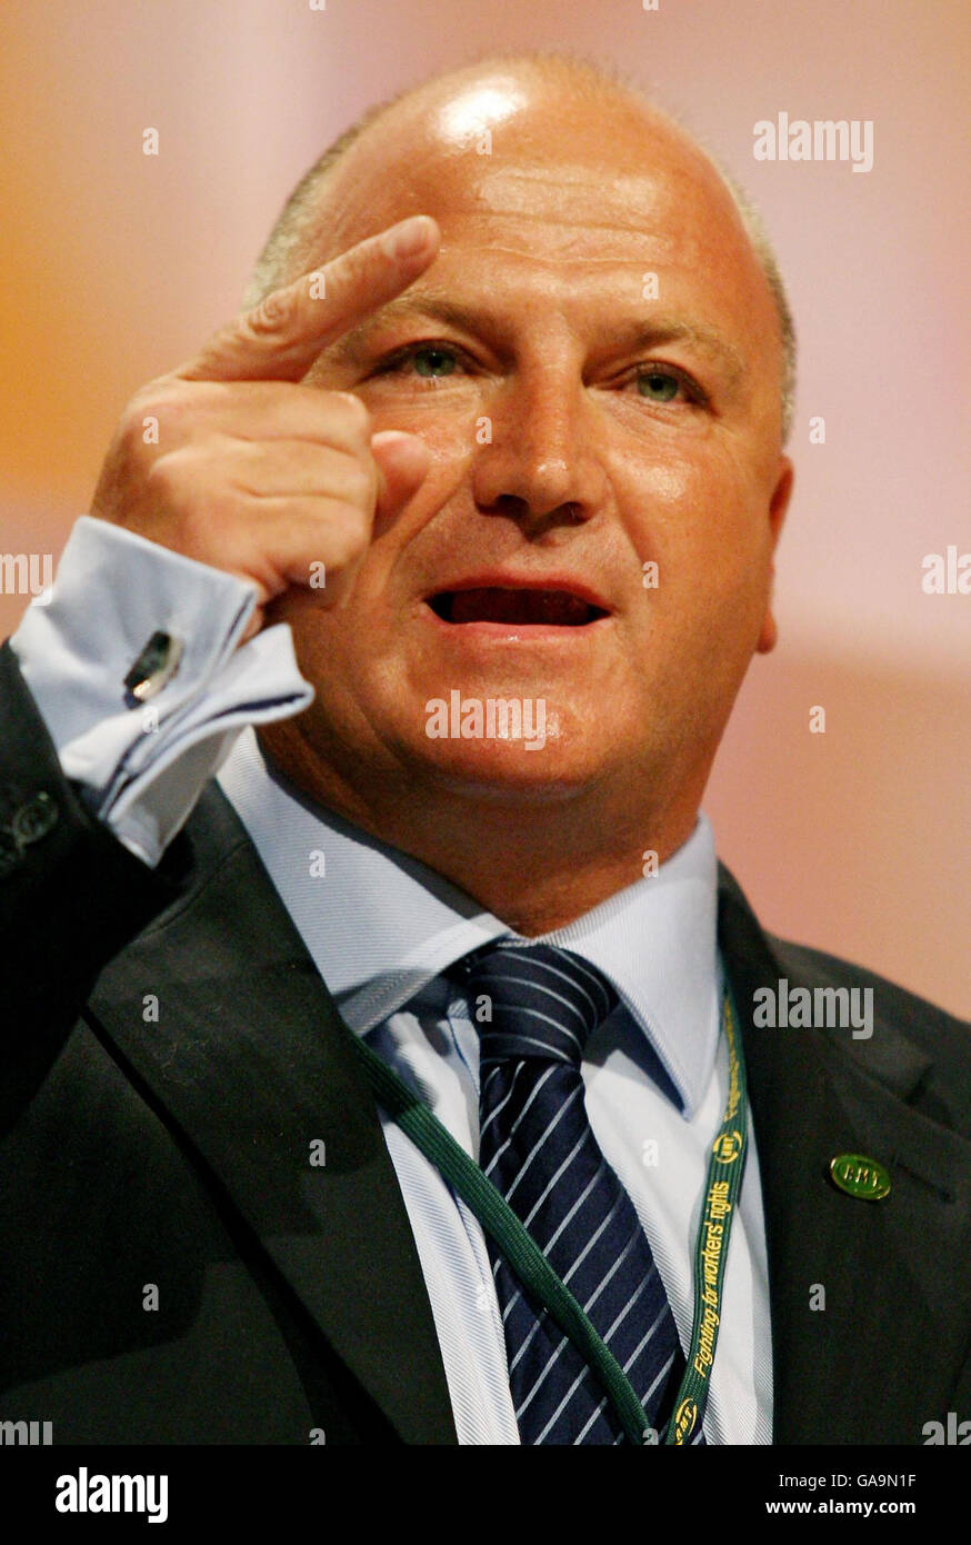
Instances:
[[[256,587],[247,637],[289,586],[326,565],[340,604],[375,511],[421,484],[429,454],[412,434],[370,433],[350,392],[299,382],[321,349],[421,273],[438,227],[415,215],[273,290],[199,354],[142,386],[122,414],[91,514]],[[144,420],[157,420],[145,443]]]

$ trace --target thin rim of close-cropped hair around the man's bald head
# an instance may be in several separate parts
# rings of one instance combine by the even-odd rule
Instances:
[[[364,134],[377,128],[397,107],[431,94],[434,88],[448,82],[460,85],[463,79],[480,77],[489,70],[496,73],[502,70],[526,70],[545,79],[559,76],[565,85],[587,100],[627,97],[631,105],[641,108],[647,116],[681,138],[712,167],[735,205],[775,306],[783,343],[781,417],[783,442],[786,442],[792,428],[795,397],[795,323],[783,275],[758,209],[732,173],[721,164],[721,159],[710,145],[681,122],[676,114],[662,108],[636,80],[616,65],[584,59],[568,51],[542,49],[486,54],[465,65],[426,76],[366,108],[327,145],[287,196],[253,267],[244,295],[244,306],[256,306],[270,290],[284,284],[287,278],[296,277],[290,272],[293,258],[306,235],[307,221],[318,205],[323,185],[335,165],[344,159],[347,151]]]

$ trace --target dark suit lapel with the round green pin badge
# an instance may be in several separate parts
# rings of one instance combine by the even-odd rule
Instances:
[[[929,1060],[880,1015],[878,992],[868,1041],[752,1023],[758,987],[810,983],[770,946],[727,871],[719,941],[766,1213],[773,1441],[920,1443],[923,1424],[946,1414],[966,1355],[971,1289],[954,1284],[966,1284],[957,1262],[971,1247],[971,1145],[908,1103]],[[838,1191],[829,1162],[840,1153],[886,1165],[891,1194]]]

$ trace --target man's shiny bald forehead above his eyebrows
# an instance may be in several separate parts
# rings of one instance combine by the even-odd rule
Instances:
[[[303,267],[406,215],[442,227],[438,273],[529,270],[537,287],[594,297],[656,272],[659,301],[775,334],[738,210],[707,158],[621,94],[494,76],[438,85],[367,128],[333,167],[307,222]]]

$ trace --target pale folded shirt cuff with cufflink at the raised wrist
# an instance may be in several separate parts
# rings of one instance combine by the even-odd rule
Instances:
[[[147,864],[157,864],[247,725],[313,700],[289,624],[239,638],[253,586],[123,527],[82,516],[49,590],[11,638],[66,777]],[[182,646],[144,703],[125,675],[150,637]]]

